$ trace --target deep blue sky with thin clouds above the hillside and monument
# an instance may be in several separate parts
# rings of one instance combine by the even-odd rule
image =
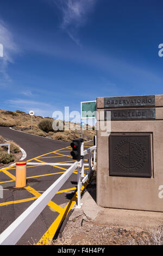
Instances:
[[[52,116],[99,96],[162,94],[161,0],[1,0],[1,109]]]

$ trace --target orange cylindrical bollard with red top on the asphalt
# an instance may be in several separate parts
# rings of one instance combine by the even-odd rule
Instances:
[[[26,187],[26,161],[16,162],[16,182],[15,187]]]

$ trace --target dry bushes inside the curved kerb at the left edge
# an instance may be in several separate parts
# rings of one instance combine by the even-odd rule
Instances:
[[[6,164],[17,161],[21,158],[21,150],[16,143],[13,141],[5,141],[2,136],[0,136],[0,144],[10,143],[10,154],[8,154],[8,147],[2,146],[0,147],[0,168],[6,166]]]

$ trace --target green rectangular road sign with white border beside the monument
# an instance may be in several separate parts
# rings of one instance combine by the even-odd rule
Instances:
[[[96,101],[81,102],[81,119],[96,118]]]

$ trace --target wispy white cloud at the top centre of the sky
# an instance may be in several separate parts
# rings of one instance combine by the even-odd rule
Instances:
[[[65,29],[77,45],[80,45],[76,36],[77,28],[85,24],[87,14],[93,10],[95,2],[96,0],[53,0],[53,3],[61,10],[62,29]]]

